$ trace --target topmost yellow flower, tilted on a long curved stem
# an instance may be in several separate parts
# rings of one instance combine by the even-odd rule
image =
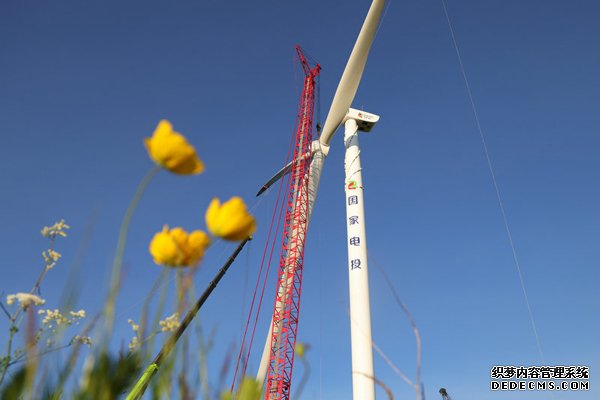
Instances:
[[[195,175],[204,171],[194,146],[165,119],[158,123],[151,138],[144,139],[144,144],[152,161],[175,174]]]

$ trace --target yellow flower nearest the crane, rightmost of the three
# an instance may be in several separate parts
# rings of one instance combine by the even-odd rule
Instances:
[[[232,197],[221,205],[215,197],[206,210],[206,227],[225,240],[244,240],[256,230],[256,221],[241,198]]]

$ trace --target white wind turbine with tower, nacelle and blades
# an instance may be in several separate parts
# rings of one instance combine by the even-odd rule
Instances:
[[[352,389],[355,400],[372,400],[375,398],[373,380],[373,351],[371,341],[371,316],[369,304],[369,283],[367,268],[367,249],[363,205],[363,187],[360,167],[360,150],[358,147],[358,131],[369,131],[379,120],[379,117],[350,108],[367,62],[371,44],[385,5],[385,0],[373,0],[346,68],[342,74],[337,90],[333,97],[329,113],[325,120],[323,130],[318,140],[312,142],[310,152],[300,154],[286,165],[273,178],[271,178],[259,191],[262,193],[274,182],[293,169],[294,165],[310,157],[310,172],[308,176],[308,204],[307,222],[310,220],[314,203],[317,197],[321,173],[325,158],[329,153],[331,139],[344,124],[345,155],[345,191],[348,233],[348,270],[350,285],[350,320],[352,340]],[[293,233],[293,232],[292,232]],[[298,244],[302,246],[304,242]],[[287,290],[288,281],[279,281],[278,296]],[[276,300],[277,309],[277,300]],[[277,329],[277,328],[276,328]],[[276,332],[277,336],[278,332]],[[273,337],[273,320],[271,320],[269,333],[265,343],[257,379],[264,382],[269,367],[271,355],[271,341]],[[293,351],[293,350],[292,350]],[[292,354],[293,360],[293,354]],[[289,394],[289,388],[287,388]],[[267,388],[267,399],[282,398],[280,394],[270,397],[270,388]]]

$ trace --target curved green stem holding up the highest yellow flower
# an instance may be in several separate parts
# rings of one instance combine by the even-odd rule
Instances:
[[[138,185],[135,195],[133,199],[131,199],[131,203],[129,203],[129,207],[125,212],[125,216],[123,217],[123,221],[121,221],[121,228],[119,229],[119,240],[117,242],[117,250],[115,252],[115,258],[113,260],[111,280],[110,280],[110,291],[108,294],[108,299],[106,301],[106,305],[104,306],[104,334],[105,338],[110,335],[112,332],[114,318],[115,318],[115,303],[117,300],[117,294],[119,292],[120,280],[121,280],[121,268],[123,266],[123,255],[125,254],[125,244],[127,243],[127,233],[129,232],[129,225],[131,224],[131,219],[133,214],[144,194],[144,191],[148,187],[154,175],[160,171],[161,167],[158,165],[152,168],[150,172],[144,176],[140,184]],[[106,343],[104,343],[106,344]]]

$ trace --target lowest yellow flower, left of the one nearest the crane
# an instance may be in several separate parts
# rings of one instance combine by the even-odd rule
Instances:
[[[197,264],[210,246],[210,239],[203,231],[187,233],[183,228],[165,225],[150,242],[150,254],[154,262],[169,267],[183,267]]]

